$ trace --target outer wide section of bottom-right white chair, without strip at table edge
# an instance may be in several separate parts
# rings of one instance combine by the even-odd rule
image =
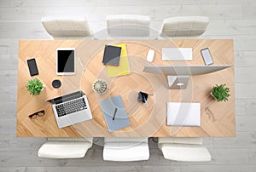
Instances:
[[[166,159],[174,161],[211,161],[210,152],[200,145],[161,144],[160,149]]]

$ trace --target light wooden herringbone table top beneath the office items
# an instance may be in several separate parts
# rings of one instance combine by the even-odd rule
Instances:
[[[102,65],[105,44],[125,43],[131,74],[109,78],[106,66]],[[55,55],[57,48],[75,47],[75,76],[57,76]],[[162,61],[164,47],[193,48],[192,61]],[[154,65],[204,65],[200,50],[209,48],[214,65],[232,67],[207,75],[192,76],[188,89],[168,89],[166,76],[144,73],[148,49],[154,49]],[[31,79],[26,60],[36,58],[38,77],[45,85],[41,95],[29,95],[26,82]],[[17,136],[128,136],[128,137],[230,137],[236,135],[235,88],[234,88],[234,48],[233,40],[22,40],[19,43],[18,95],[17,95]],[[84,67],[84,69],[83,69]],[[97,78],[107,80],[107,94],[96,95],[91,84]],[[54,89],[51,82],[60,79],[62,86]],[[230,98],[226,102],[216,102],[209,95],[212,86],[226,83],[230,87]],[[81,89],[90,102],[93,119],[58,129],[49,100],[62,94]],[[139,104],[137,91],[154,95],[148,99],[149,106]],[[108,132],[99,107],[99,101],[109,96],[121,95],[131,120],[131,127]],[[166,102],[200,102],[201,127],[166,126]],[[45,110],[43,117],[30,119],[33,112]]]

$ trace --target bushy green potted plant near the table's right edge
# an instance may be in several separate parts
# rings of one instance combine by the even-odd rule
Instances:
[[[230,88],[225,87],[226,84],[216,84],[215,86],[213,86],[212,88],[212,92],[211,95],[212,97],[219,101],[227,101],[229,100],[229,96],[230,96]]]

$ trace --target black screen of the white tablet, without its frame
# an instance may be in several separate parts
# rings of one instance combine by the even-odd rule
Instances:
[[[57,50],[57,72],[74,72],[74,50]]]

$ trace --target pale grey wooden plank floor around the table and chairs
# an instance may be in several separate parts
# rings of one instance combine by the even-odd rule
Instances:
[[[40,2],[40,3],[39,3]],[[0,171],[255,171],[256,170],[256,3],[255,0],[1,0],[0,1]],[[146,162],[102,160],[102,146],[85,158],[38,158],[44,138],[16,138],[18,40],[49,39],[41,24],[47,15],[85,15],[92,30],[106,27],[107,14],[147,14],[155,30],[164,18],[205,15],[210,24],[203,38],[235,42],[236,138],[204,140],[208,163],[167,161],[149,141]]]

